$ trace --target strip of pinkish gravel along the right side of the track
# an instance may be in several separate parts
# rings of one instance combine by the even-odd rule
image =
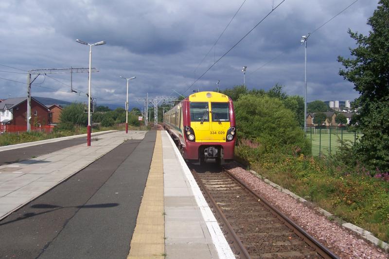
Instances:
[[[291,196],[269,186],[263,180],[238,166],[230,166],[229,171],[248,184],[252,190],[262,195],[273,206],[279,208],[296,224],[323,243],[340,258],[389,258],[382,249],[352,233],[326,217],[318,215],[312,208]]]

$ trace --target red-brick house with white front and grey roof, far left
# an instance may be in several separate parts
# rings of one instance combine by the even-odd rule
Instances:
[[[50,110],[31,98],[31,120],[32,127],[49,125]],[[0,123],[2,125],[25,126],[27,129],[27,97],[8,98],[0,103]],[[22,129],[20,129],[22,131]]]

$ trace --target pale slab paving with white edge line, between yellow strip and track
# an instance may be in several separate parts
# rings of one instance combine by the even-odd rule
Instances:
[[[166,258],[235,258],[192,173],[163,133]]]

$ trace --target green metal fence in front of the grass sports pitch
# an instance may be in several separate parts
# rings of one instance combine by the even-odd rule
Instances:
[[[361,134],[350,132],[343,127],[336,128],[307,128],[306,138],[311,141],[312,155],[335,154],[345,142],[355,143]]]

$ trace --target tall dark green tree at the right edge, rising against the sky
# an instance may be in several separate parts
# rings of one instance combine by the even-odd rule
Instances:
[[[371,169],[389,170],[389,0],[380,0],[367,24],[369,35],[348,31],[357,47],[351,58],[338,57],[339,74],[354,84],[360,96],[353,102],[355,131],[363,136],[354,144],[359,161]]]

